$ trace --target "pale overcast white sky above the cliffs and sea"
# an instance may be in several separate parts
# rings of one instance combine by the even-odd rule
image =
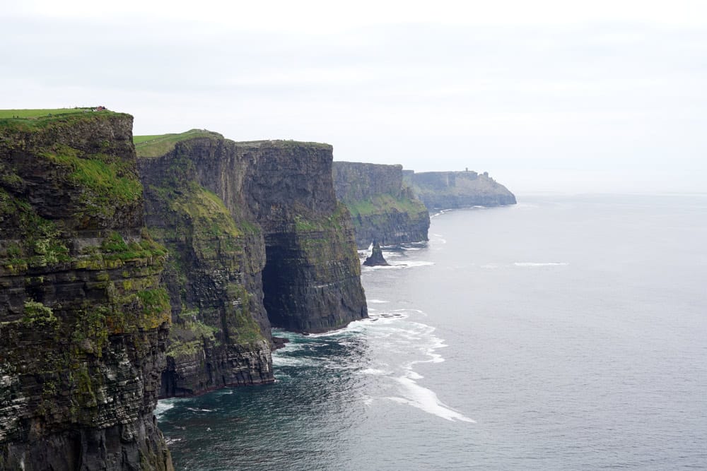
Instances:
[[[12,3],[9,4],[8,3]],[[0,108],[327,142],[515,193],[707,192],[707,1],[34,1]]]

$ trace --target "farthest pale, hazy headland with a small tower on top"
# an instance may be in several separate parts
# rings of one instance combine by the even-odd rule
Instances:
[[[515,204],[513,193],[486,172],[405,172],[405,181],[431,211]]]

